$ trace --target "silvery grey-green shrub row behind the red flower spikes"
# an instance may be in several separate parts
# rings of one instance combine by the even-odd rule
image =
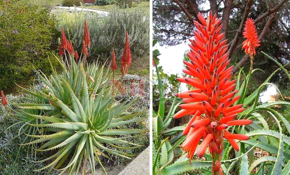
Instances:
[[[112,8],[107,16],[90,12],[55,11],[57,29],[64,27],[66,36],[73,41],[75,50],[81,53],[84,33],[84,20],[87,20],[91,47],[88,49],[88,59],[106,60],[113,48],[116,58],[122,56],[125,31],[128,31],[131,54],[137,56],[149,55],[149,14],[142,8],[134,11]],[[134,59],[134,57],[132,58]]]

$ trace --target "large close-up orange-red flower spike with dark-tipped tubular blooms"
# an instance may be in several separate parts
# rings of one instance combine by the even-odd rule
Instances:
[[[209,146],[213,155],[214,175],[222,174],[220,168],[223,139],[248,139],[244,135],[229,135],[225,132],[228,126],[250,124],[250,120],[234,120],[237,114],[244,108],[241,105],[232,106],[241,96],[235,90],[236,80],[231,80],[233,66],[227,68],[230,62],[227,52],[227,40],[222,40],[224,34],[221,31],[221,19],[209,12],[207,19],[198,14],[199,21],[194,21],[196,31],[189,41],[190,51],[187,53],[190,61],[184,61],[189,77],[177,78],[193,88],[189,91],[177,93],[183,98],[184,104],[181,110],[174,115],[180,118],[184,115],[193,115],[186,124],[183,135],[186,135],[182,149],[187,152],[186,157],[191,161],[200,139],[203,139],[197,156],[202,157]],[[197,112],[198,111],[198,112]],[[191,126],[191,127],[190,127]],[[226,135],[226,136],[225,136]],[[238,150],[234,140],[229,140],[235,150]]]

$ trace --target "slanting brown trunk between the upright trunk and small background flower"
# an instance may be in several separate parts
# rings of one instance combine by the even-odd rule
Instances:
[[[253,0],[249,0],[247,5],[246,5],[246,8],[245,8],[245,11],[244,11],[244,14],[243,14],[243,18],[242,18],[242,21],[241,21],[241,24],[238,28],[238,31],[237,33],[235,34],[235,37],[234,39],[231,41],[231,46],[229,48],[229,58],[231,58],[232,54],[233,54],[233,51],[238,43],[238,40],[242,34],[242,30],[244,28],[244,24],[248,18],[248,15],[249,15],[249,12],[250,12],[250,9],[251,9],[251,6],[253,5]]]

